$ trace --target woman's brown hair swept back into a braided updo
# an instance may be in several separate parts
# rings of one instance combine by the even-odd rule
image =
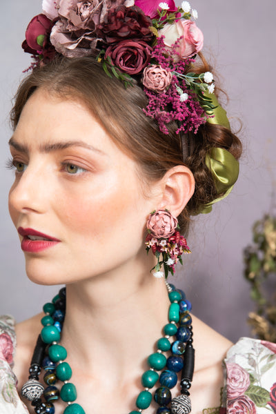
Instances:
[[[202,63],[197,72],[210,70],[204,59]],[[57,58],[34,69],[17,91],[11,112],[13,128],[17,126],[23,106],[37,88],[85,103],[115,143],[137,161],[148,179],[160,179],[176,165],[190,168],[195,177],[195,193],[178,217],[183,233],[188,230],[190,215],[197,214],[204,204],[219,197],[205,164],[208,150],[225,148],[237,159],[242,152],[239,139],[230,130],[207,123],[199,127],[196,135],[190,133],[182,138],[182,141],[188,140],[190,148],[183,160],[181,137],[175,134],[177,126],[170,125],[168,135],[160,132],[157,123],[143,112],[147,100],[141,87],[135,82],[124,88],[115,77],[107,77],[94,57]]]

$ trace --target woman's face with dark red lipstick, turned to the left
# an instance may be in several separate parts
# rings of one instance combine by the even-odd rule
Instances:
[[[154,197],[145,197],[137,163],[85,106],[37,90],[23,108],[10,150],[10,215],[30,279],[76,282],[126,262],[135,266],[145,255]]]

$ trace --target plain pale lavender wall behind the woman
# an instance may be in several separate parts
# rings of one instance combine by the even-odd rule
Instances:
[[[178,1],[177,4],[181,2]],[[248,335],[253,307],[243,279],[242,249],[251,242],[251,226],[271,208],[275,186],[275,0],[195,0],[197,26],[204,32],[211,57],[230,100],[226,109],[244,142],[239,181],[230,197],[213,213],[193,219],[188,238],[193,254],[185,257],[177,285],[193,302],[193,312],[233,341]],[[30,64],[21,50],[24,31],[39,0],[13,0],[1,5],[0,131],[1,239],[0,314],[21,321],[41,311],[57,287],[37,286],[24,272],[17,233],[8,216],[7,195],[12,172],[6,170],[10,137],[8,112],[12,95]]]

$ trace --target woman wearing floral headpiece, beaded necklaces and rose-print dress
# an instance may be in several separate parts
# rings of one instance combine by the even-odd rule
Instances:
[[[1,413],[275,411],[273,344],[231,347],[196,317],[192,330],[190,303],[160,278],[189,252],[190,215],[230,192],[241,146],[195,62],[197,12],[129,3],[44,1],[26,32],[37,58],[12,110],[10,215],[28,277],[66,293],[15,326],[13,371],[1,319]]]

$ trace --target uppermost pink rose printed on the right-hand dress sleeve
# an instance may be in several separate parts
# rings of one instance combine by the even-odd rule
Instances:
[[[227,368],[227,396],[229,399],[244,394],[250,385],[249,374],[238,364],[226,364]]]

